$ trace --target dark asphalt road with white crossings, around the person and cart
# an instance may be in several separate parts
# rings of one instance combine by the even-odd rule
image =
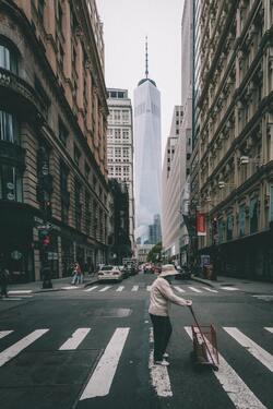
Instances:
[[[175,280],[200,323],[215,325],[219,370],[193,364],[193,320],[177,305],[170,365],[158,368],[147,314],[153,279],[1,301],[1,409],[273,409],[272,299]]]

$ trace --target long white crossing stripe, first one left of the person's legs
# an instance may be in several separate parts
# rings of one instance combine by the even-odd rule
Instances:
[[[117,328],[98,361],[80,400],[108,395],[130,328]]]

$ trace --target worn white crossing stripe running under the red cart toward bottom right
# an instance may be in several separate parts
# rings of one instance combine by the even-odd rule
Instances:
[[[185,327],[187,334],[192,339],[191,327]],[[210,345],[210,342],[206,340]],[[229,399],[237,409],[266,409],[265,406],[257,398],[257,396],[249,389],[241,377],[235,370],[226,362],[226,360],[218,353],[219,369],[212,371],[218,380],[221,386],[226,392]]]

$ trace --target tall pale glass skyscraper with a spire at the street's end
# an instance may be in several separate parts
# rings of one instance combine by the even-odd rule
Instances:
[[[161,93],[149,79],[147,43],[145,77],[134,89],[135,238],[149,241],[149,225],[161,215],[162,135]]]

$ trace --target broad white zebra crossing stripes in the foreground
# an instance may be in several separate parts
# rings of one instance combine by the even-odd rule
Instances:
[[[191,327],[185,326],[181,328],[183,341],[189,341],[189,338],[192,339]],[[263,339],[272,342],[273,340],[273,327],[264,326],[260,328]],[[14,339],[14,329],[2,329],[0,330],[0,369],[4,370],[9,365],[11,360],[15,360],[20,353],[24,352],[28,347],[34,345],[41,337],[47,337],[47,335],[54,332],[50,328],[37,328],[25,335],[23,338],[20,336],[16,337],[14,344],[7,346],[3,349],[1,344],[3,339],[9,339],[11,335]],[[95,362],[95,368],[90,369],[90,376],[87,383],[84,385],[84,388],[81,390],[79,400],[86,400],[92,398],[105,397],[111,394],[111,386],[115,381],[116,372],[119,366],[122,366],[122,354],[127,342],[129,342],[129,334],[133,334],[134,328],[131,327],[116,327],[112,328],[112,332],[108,335],[108,338],[104,340],[103,353],[99,356],[99,359]],[[222,326],[217,328],[217,332],[222,332],[222,336],[227,337],[227,340],[235,340],[236,347],[245,350],[254,362],[258,362],[264,371],[266,371],[266,376],[272,376],[273,381],[273,354],[260,346],[256,340],[251,339],[248,335],[245,334],[246,329],[238,327],[226,327]],[[88,340],[90,337],[95,337],[95,328],[91,327],[81,327],[72,332],[71,336],[67,339],[63,339],[63,342],[60,346],[56,347],[56,351],[73,351],[80,348],[83,340]],[[153,330],[149,328],[149,345],[150,351],[146,362],[146,369],[149,371],[151,387],[155,394],[161,398],[173,398],[178,393],[174,388],[174,373],[171,372],[171,364],[166,366],[154,365],[153,363]],[[19,338],[19,339],[17,339]],[[130,348],[130,344],[129,344]],[[171,354],[171,352],[170,352]],[[225,350],[219,350],[219,369],[217,372],[210,372],[210,376],[216,377],[218,381],[218,392],[225,393],[235,408],[246,409],[265,409],[269,408],[263,402],[262,392],[259,396],[252,390],[252,385],[249,385],[249,382],[242,378],[242,375],[238,373],[238,368],[240,362],[228,362],[228,358]],[[143,357],[142,357],[143,359]],[[254,362],[251,364],[254,365]],[[171,361],[170,361],[171,363]],[[27,369],[26,369],[27,371]],[[4,372],[2,372],[4,374]],[[259,374],[261,376],[261,372]],[[272,397],[273,398],[273,397]]]

